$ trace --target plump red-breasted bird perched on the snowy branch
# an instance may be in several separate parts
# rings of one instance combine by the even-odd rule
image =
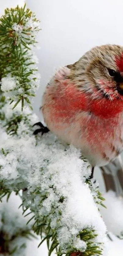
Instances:
[[[102,45],[74,64],[59,68],[48,82],[42,111],[49,130],[81,150],[103,174],[106,190],[123,192],[123,46]],[[34,124],[36,125],[36,124]]]

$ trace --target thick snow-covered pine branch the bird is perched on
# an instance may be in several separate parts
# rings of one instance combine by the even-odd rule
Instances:
[[[3,184],[11,190],[26,188],[25,207],[31,208],[40,223],[45,219],[45,225],[50,224],[51,236],[52,232],[57,233],[60,255],[86,251],[88,242],[82,239],[82,231],[86,229],[94,234],[89,242],[98,252],[99,243],[102,249],[106,243],[106,226],[85,182],[90,175],[88,163],[80,158],[79,150],[63,145],[51,133],[37,139],[32,131],[23,133],[31,123],[32,120],[27,123],[22,120],[19,134],[6,135],[1,142]]]

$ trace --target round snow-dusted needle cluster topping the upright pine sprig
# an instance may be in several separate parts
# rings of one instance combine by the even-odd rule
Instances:
[[[38,31],[41,30],[40,21],[37,20],[30,9],[24,7],[7,8],[0,18],[0,39],[6,46],[24,46],[34,44]]]

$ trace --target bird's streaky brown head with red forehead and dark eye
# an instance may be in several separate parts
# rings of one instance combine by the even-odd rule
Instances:
[[[92,98],[123,100],[123,47],[92,48],[72,65],[70,79]]]

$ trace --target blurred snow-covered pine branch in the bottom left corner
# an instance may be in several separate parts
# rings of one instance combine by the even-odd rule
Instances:
[[[26,225],[26,219],[12,207],[10,202],[0,205],[0,255],[25,255],[26,240],[30,239],[31,225]]]

